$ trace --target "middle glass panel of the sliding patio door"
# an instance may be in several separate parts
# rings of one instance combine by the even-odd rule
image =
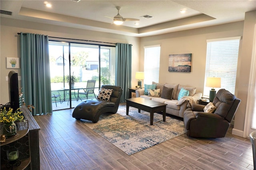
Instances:
[[[98,93],[99,82],[99,46],[71,43],[70,70],[71,75],[74,75],[74,79],[76,79],[72,89],[74,94],[71,101],[72,107],[75,107],[87,98],[95,98],[95,95]],[[87,83],[88,80],[95,80],[95,85]],[[86,88],[88,89],[86,90]]]

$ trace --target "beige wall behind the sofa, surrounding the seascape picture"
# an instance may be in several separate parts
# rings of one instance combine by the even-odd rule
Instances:
[[[144,37],[140,40],[140,61],[142,62],[144,60],[144,46],[160,44],[159,82],[188,85],[190,87],[196,87],[196,91],[203,93],[207,47],[206,40],[242,36],[243,27],[244,22],[234,22],[219,26],[173,32],[160,36]],[[168,72],[169,54],[180,53],[192,53],[191,72]],[[143,67],[144,65],[140,65],[140,69],[143,70]]]

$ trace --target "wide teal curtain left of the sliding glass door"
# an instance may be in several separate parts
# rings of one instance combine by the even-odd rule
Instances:
[[[20,33],[21,85],[32,115],[52,113],[48,36]]]

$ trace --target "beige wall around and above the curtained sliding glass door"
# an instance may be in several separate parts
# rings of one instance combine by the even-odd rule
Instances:
[[[20,57],[18,32],[28,32],[34,34],[44,34],[51,37],[73,38],[80,40],[92,40],[110,43],[130,43],[132,44],[132,86],[137,84],[135,72],[138,71],[139,58],[139,38],[131,36],[122,36],[118,34],[109,34],[63,26],[54,26],[49,24],[39,24],[21,20],[0,18],[0,103],[9,102],[8,81],[5,77],[9,71],[14,70],[20,75],[20,69],[6,69],[6,57]],[[112,44],[111,44],[112,45]],[[23,77],[22,77],[23,78]],[[29,78],[29,77],[28,77]],[[19,81],[19,85],[21,82]]]

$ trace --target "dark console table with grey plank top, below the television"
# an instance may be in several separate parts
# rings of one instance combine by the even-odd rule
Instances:
[[[20,109],[28,121],[29,127],[29,146],[30,146],[30,159],[31,159],[31,169],[40,170],[40,158],[39,158],[39,130],[40,127],[36,123],[34,117],[31,115],[28,108],[22,105]]]

